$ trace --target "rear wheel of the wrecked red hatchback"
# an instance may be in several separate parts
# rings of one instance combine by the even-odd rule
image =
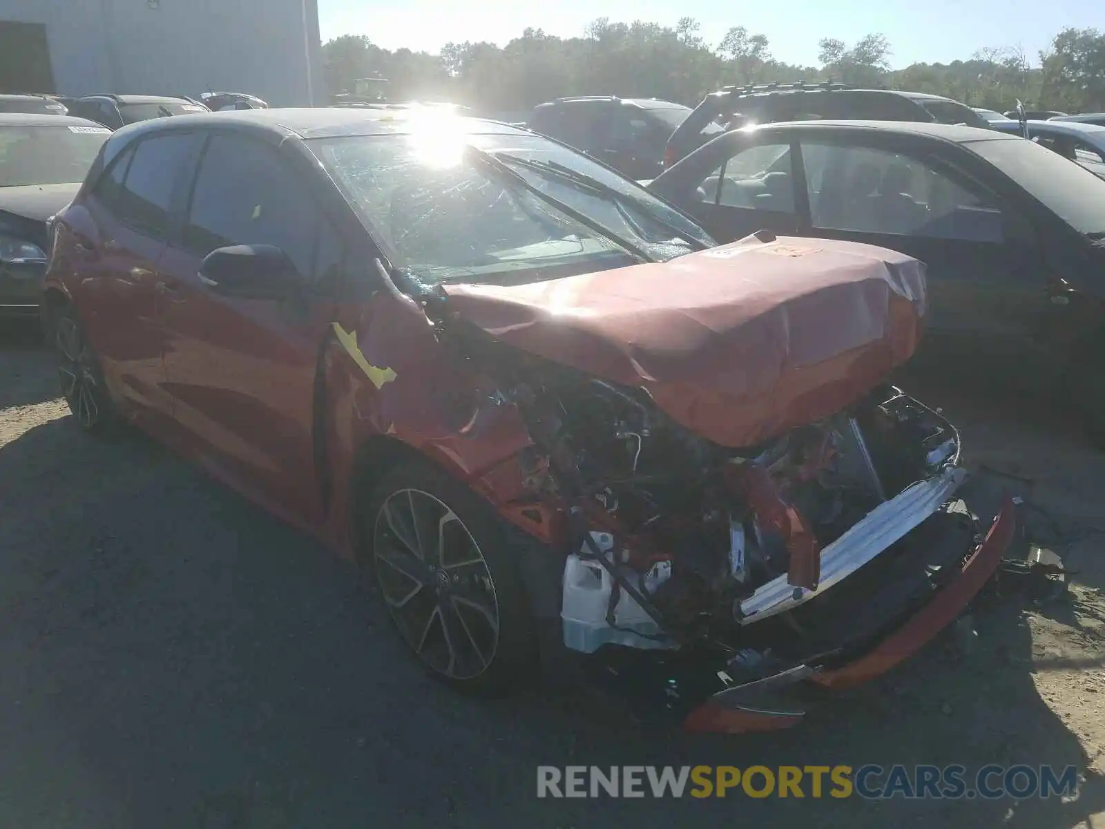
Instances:
[[[77,424],[90,434],[106,436],[122,418],[99,370],[99,360],[84,336],[72,305],[51,314],[48,326],[57,358],[62,395]]]

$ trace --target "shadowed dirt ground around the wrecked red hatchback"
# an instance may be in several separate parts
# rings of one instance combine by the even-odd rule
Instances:
[[[924,384],[922,384],[924,385]],[[1105,827],[1105,455],[930,388],[969,460],[1080,570],[774,736],[691,737],[588,697],[451,695],[349,568],[137,436],[78,433],[30,333],[0,342],[0,827]],[[1076,799],[538,800],[539,764],[1075,764]],[[728,821],[728,823],[723,823]]]

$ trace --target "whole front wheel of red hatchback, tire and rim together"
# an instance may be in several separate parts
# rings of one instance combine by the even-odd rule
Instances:
[[[432,675],[497,694],[530,674],[533,619],[503,520],[486,502],[415,462],[385,475],[359,518],[361,564]]]

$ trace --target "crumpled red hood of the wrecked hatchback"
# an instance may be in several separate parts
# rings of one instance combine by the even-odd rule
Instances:
[[[496,339],[642,387],[703,438],[750,447],[840,411],[913,355],[925,270],[872,245],[748,237],[665,263],[445,292]]]

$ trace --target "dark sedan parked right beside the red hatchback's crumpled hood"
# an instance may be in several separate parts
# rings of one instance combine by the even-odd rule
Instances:
[[[649,188],[716,239],[877,244],[928,266],[926,337],[1059,378],[1101,428],[1105,181],[994,129],[821,122],[726,133]]]

